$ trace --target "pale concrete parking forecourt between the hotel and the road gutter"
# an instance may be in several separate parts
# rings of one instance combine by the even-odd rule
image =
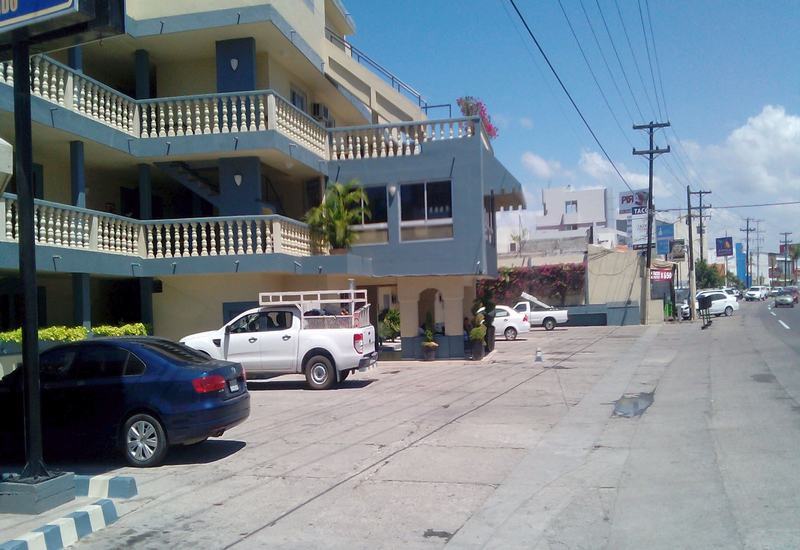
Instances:
[[[593,344],[614,333],[622,346],[641,331],[536,331],[499,341],[479,363],[383,363],[332,391],[300,377],[251,382],[247,422],[172,449],[161,467],[56,464],[138,483],[119,522],[80,545],[441,545],[603,375],[614,351]]]

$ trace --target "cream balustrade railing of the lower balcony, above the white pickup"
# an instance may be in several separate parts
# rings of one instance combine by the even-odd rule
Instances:
[[[140,258],[314,253],[308,226],[276,215],[134,220],[40,200],[34,215],[36,244],[43,246]],[[2,241],[19,241],[17,200],[10,194],[0,198]]]

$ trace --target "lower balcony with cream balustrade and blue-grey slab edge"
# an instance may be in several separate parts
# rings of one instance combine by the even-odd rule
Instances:
[[[240,271],[371,274],[369,259],[329,256],[314,246],[308,225],[277,215],[136,220],[36,200],[34,220],[41,271],[129,277]],[[0,269],[18,268],[18,241],[17,198],[7,193],[0,197]]]

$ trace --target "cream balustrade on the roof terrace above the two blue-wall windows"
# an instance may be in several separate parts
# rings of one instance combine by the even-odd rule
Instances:
[[[457,118],[332,128],[331,160],[419,155],[423,144],[472,137],[479,119]]]

